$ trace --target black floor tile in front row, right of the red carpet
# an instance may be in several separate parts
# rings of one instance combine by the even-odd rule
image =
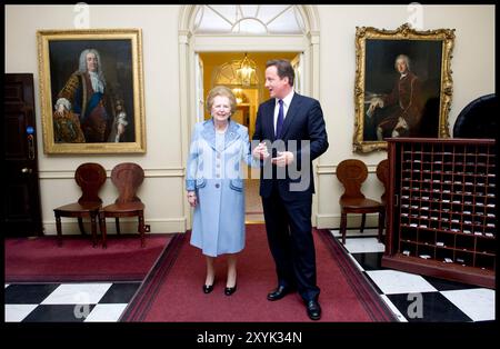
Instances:
[[[422,297],[419,298],[419,295]],[[387,297],[409,322],[472,321],[440,292],[400,293]]]

